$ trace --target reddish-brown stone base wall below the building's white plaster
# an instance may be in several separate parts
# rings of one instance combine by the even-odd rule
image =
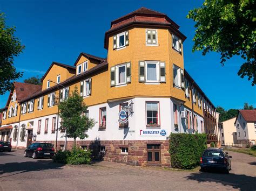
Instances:
[[[55,145],[55,141],[44,141]],[[170,166],[171,157],[169,154],[169,141],[168,140],[78,140],[77,146],[86,146],[92,150],[92,155],[98,157],[100,147],[105,147],[105,152],[102,152],[102,159],[111,162],[120,162],[123,164],[136,165],[136,166]],[[160,145],[160,163],[147,162],[147,144]],[[59,141],[57,150],[60,145],[64,145],[64,141]],[[73,141],[68,141],[67,149],[70,150],[73,146]],[[128,153],[122,153],[122,147],[128,148]]]

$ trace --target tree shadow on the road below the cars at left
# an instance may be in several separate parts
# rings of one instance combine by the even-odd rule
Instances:
[[[5,173],[25,173],[31,171],[43,171],[46,169],[61,169],[64,164],[54,163],[47,160],[37,160],[37,161],[26,161],[26,162],[9,162],[5,164],[0,164],[0,178],[11,176],[2,175]]]

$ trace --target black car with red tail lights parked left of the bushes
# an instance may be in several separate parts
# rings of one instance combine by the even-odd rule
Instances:
[[[33,143],[24,151],[24,157],[36,158],[52,158],[54,148],[51,143]]]

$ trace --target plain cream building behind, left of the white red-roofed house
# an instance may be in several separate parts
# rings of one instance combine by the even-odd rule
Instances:
[[[233,146],[238,143],[234,122],[235,117],[219,123],[221,145]]]

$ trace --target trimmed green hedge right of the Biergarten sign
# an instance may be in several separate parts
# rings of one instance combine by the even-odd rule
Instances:
[[[171,133],[171,166],[173,168],[192,169],[200,164],[200,157],[207,148],[206,134]]]

